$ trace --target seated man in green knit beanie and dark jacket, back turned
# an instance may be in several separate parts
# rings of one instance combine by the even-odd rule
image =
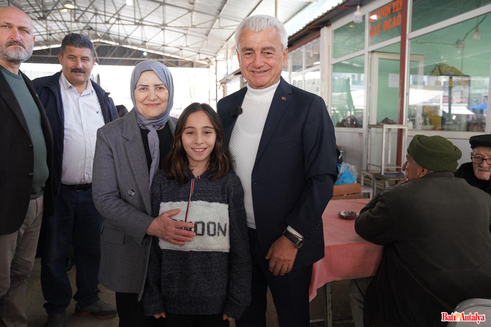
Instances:
[[[491,299],[491,197],[454,176],[461,156],[444,137],[415,135],[403,182],[356,218],[356,233],[384,251],[375,277],[350,283],[355,327],[444,327],[442,312]]]

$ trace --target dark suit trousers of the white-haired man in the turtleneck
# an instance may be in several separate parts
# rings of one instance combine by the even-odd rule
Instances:
[[[312,265],[292,270],[285,276],[274,276],[269,271],[259,246],[257,232],[247,228],[252,259],[252,301],[236,320],[237,327],[266,327],[266,293],[268,286],[273,295],[274,306],[280,327],[308,327],[308,289],[312,276]]]

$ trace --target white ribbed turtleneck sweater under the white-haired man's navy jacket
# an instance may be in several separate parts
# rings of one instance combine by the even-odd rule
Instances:
[[[254,168],[259,141],[278,84],[279,81],[261,90],[253,89],[247,84],[247,92],[242,102],[242,114],[237,117],[230,136],[229,148],[235,160],[235,173],[241,179],[244,188],[247,226],[254,229],[256,222],[252,205],[252,168]],[[302,237],[292,227],[287,228],[290,232]]]

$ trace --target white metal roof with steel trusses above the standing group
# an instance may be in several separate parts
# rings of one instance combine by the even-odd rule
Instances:
[[[65,4],[69,2],[76,8],[66,9]],[[38,50],[59,47],[63,37],[73,31],[104,43],[105,47],[101,49],[137,48],[147,52],[163,53],[176,59],[203,63],[207,62],[207,58],[220,56],[223,53],[221,50],[233,47],[235,29],[244,18],[255,14],[274,15],[274,2],[274,0],[17,0],[14,5],[26,11],[33,19],[35,49]],[[317,3],[320,2],[325,1],[319,0]],[[0,5],[6,4],[7,0],[0,0]],[[289,21],[287,24],[290,24],[295,14],[314,4],[309,4],[306,0],[282,0],[280,20]],[[110,52],[106,54],[111,55]],[[106,55],[100,56],[106,57]],[[142,59],[144,58],[142,55]]]

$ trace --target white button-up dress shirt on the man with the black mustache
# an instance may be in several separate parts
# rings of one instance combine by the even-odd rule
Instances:
[[[59,83],[65,117],[61,183],[91,183],[97,129],[104,125],[101,105],[90,80],[82,94],[63,73]]]

